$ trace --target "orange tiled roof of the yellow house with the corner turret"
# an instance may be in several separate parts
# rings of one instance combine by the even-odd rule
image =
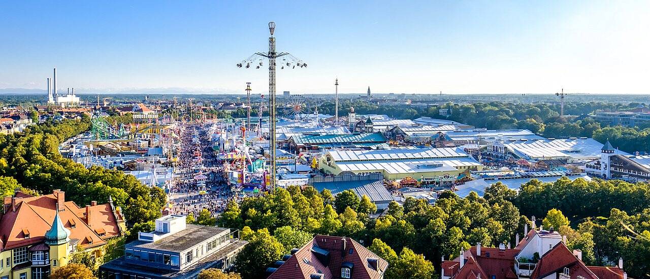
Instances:
[[[59,192],[64,195],[64,192]],[[29,196],[25,193],[14,197],[15,206],[5,204],[5,214],[0,217],[0,251],[10,250],[26,245],[34,245],[44,241],[45,232],[51,228],[57,207],[57,194],[42,195],[38,197]],[[63,198],[63,197],[62,197]],[[97,209],[95,209],[97,207]],[[14,210],[14,208],[16,208]],[[79,217],[79,212],[85,212],[85,208],[79,208],[74,202],[64,202],[62,210],[59,211],[60,219],[66,220],[64,226],[70,230],[70,239],[80,239],[81,248],[96,247],[106,243],[103,239],[108,237],[99,237],[93,229],[102,228],[107,232],[107,236],[119,235],[120,228],[118,221],[110,212],[105,212],[110,208],[110,204],[101,206],[92,206],[92,212],[96,212],[93,218],[91,213],[90,225],[86,224],[85,218]],[[103,208],[103,209],[102,209]],[[118,214],[119,215],[119,214]],[[83,218],[83,219],[82,219]],[[71,222],[72,221],[72,222]],[[75,227],[70,226],[71,223]],[[30,234],[25,238],[25,231]],[[118,232],[118,234],[116,234]],[[92,241],[92,243],[91,243]]]

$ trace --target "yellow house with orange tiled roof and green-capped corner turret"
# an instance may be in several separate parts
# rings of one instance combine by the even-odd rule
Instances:
[[[48,278],[73,252],[103,256],[109,239],[124,232],[122,212],[110,199],[79,208],[60,190],[38,197],[18,191],[3,200],[0,278]]]

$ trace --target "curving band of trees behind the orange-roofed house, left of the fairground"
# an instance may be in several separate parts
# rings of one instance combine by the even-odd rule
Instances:
[[[162,189],[144,186],[121,171],[96,166],[86,169],[59,154],[62,141],[89,127],[90,119],[84,116],[61,123],[48,121],[21,133],[0,136],[0,190],[6,195],[10,188],[42,194],[61,189],[67,200],[77,204],[90,204],[91,200],[103,203],[112,197],[129,226],[136,230],[152,228],[151,221],[161,215],[166,200]]]

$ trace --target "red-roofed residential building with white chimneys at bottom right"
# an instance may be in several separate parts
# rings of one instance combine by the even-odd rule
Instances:
[[[590,267],[582,262],[582,251],[570,251],[563,236],[550,228],[540,226],[528,231],[517,246],[510,249],[503,243],[499,248],[481,247],[476,243],[467,251],[461,250],[454,260],[442,262],[442,279],[465,278],[584,278],[627,279],[623,260],[615,267]],[[537,256],[536,256],[537,255]],[[539,256],[539,259],[538,259]],[[538,259],[538,260],[537,260]]]

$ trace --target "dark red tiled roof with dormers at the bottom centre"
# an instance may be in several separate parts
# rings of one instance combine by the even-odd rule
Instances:
[[[343,251],[343,241],[345,250]],[[318,259],[313,249],[322,249],[329,252],[329,263]],[[377,259],[378,270],[369,265],[369,259]],[[351,278],[378,279],[388,267],[388,262],[379,258],[353,239],[340,236],[315,236],[304,247],[295,252],[289,260],[281,265],[278,270],[268,278],[310,278],[312,273],[323,274],[324,279],[340,278],[341,265],[345,262],[352,263]]]

